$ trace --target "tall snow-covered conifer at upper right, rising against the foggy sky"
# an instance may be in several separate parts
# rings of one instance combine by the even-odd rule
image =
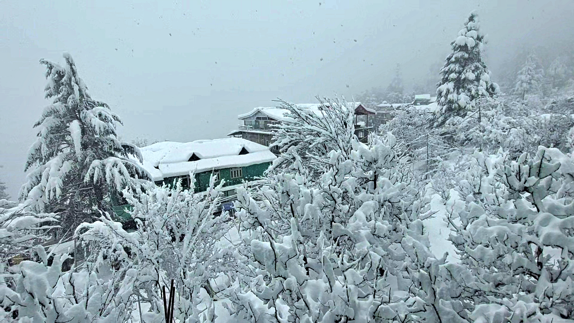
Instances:
[[[440,70],[441,80],[436,90],[440,109],[434,116],[435,126],[443,125],[452,116],[465,116],[481,95],[490,97],[498,93],[498,84],[491,81],[490,71],[482,59],[483,47],[484,36],[476,13],[472,12],[452,41],[452,53]]]

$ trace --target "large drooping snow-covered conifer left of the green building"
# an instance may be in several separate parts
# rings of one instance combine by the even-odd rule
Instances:
[[[52,103],[34,124],[37,139],[20,200],[38,212],[60,212],[69,228],[90,221],[95,207],[105,209],[106,198],[129,184],[130,176],[148,174],[128,158],[141,160],[138,148],[117,139],[119,117],[88,95],[72,56],[63,56],[65,66],[40,60],[48,79],[45,97]]]

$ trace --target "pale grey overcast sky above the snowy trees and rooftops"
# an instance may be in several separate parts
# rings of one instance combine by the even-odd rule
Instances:
[[[48,104],[41,58],[70,52],[123,139],[214,139],[276,98],[350,101],[386,86],[397,63],[417,82],[475,9],[494,75],[517,48],[572,39],[570,0],[0,0],[0,179],[17,198]]]

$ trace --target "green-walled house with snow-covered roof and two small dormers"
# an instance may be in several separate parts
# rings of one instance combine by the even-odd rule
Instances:
[[[156,184],[173,185],[181,179],[190,187],[193,172],[195,192],[207,190],[210,176],[224,179],[224,196],[234,195],[235,188],[262,176],[276,156],[264,145],[241,138],[196,140],[191,143],[164,141],[140,148],[142,165]]]

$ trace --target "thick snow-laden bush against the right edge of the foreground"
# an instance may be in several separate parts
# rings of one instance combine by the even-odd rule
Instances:
[[[459,187],[467,207],[459,223],[452,222],[456,233],[451,236],[461,264],[476,277],[458,280],[474,291],[471,317],[483,322],[506,322],[502,314],[528,317],[525,322],[574,318],[571,156],[540,147],[532,159],[523,153],[510,161],[502,151],[475,157],[483,167],[475,175],[482,174]]]

